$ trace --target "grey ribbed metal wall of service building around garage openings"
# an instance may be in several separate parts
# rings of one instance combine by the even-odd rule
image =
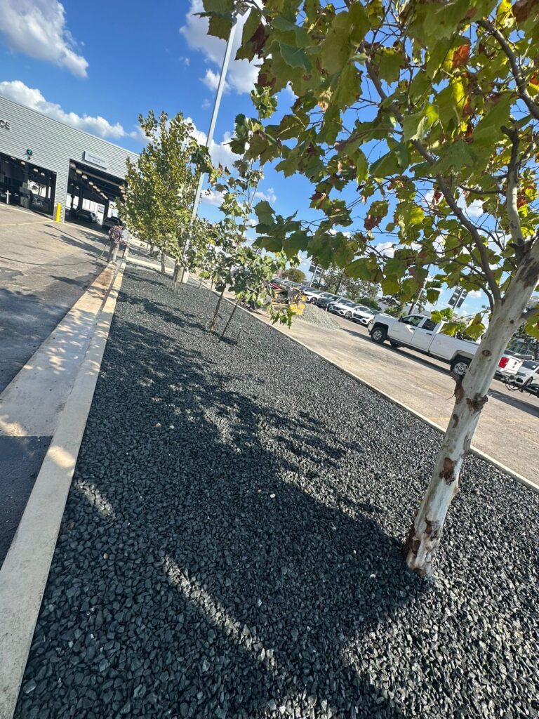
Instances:
[[[6,123],[9,129],[6,129]],[[134,152],[0,97],[0,152],[27,160],[27,150],[32,150],[30,162],[56,173],[55,203],[62,203],[62,219],[67,202],[70,160],[122,179],[126,158],[135,161],[138,157]],[[84,160],[84,152],[106,159],[106,169]]]

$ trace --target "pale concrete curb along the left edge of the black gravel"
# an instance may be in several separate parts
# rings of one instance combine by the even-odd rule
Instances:
[[[86,357],[0,569],[0,719],[11,719],[17,705],[124,268],[125,262],[114,275]]]

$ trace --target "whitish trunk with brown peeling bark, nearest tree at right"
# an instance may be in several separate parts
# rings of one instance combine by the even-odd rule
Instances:
[[[522,324],[522,312],[539,278],[539,244],[522,260],[501,302],[496,303],[489,327],[462,382],[457,381],[455,406],[436,460],[430,485],[410,528],[406,562],[418,574],[433,571],[443,523],[451,500],[459,489],[464,455],[474,436],[479,414],[487,402],[487,391],[507,342]]]

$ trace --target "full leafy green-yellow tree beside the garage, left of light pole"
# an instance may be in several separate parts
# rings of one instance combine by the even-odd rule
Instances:
[[[139,123],[147,145],[137,162],[126,162],[126,188],[118,207],[132,232],[160,249],[165,272],[165,255],[175,257],[178,266],[198,182],[194,159],[204,152],[181,113],[169,118],[163,111],[157,119],[150,110],[147,117],[139,116]]]

